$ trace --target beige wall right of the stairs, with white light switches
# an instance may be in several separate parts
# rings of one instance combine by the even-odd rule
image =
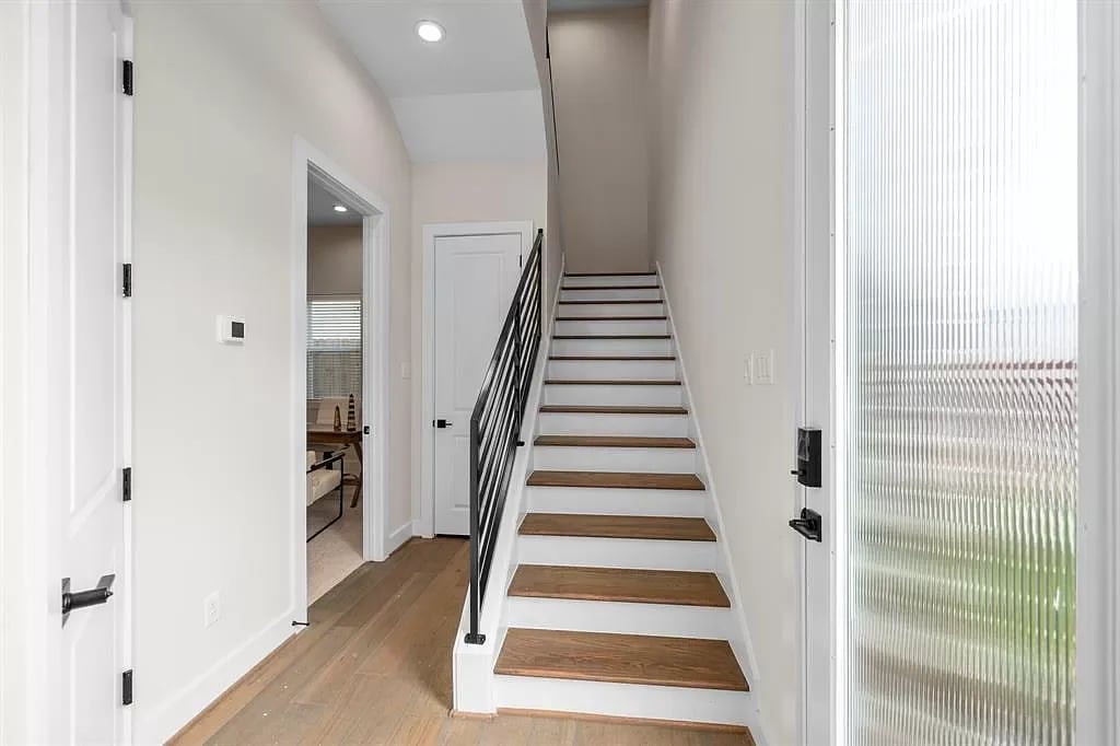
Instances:
[[[724,515],[772,744],[795,743],[793,3],[654,0],[651,234]],[[563,140],[561,140],[562,147]],[[744,384],[774,351],[774,385]]]

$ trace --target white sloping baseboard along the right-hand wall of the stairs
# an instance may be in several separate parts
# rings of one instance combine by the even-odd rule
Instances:
[[[700,417],[696,411],[696,407],[693,405],[694,400],[692,399],[692,389],[689,385],[688,367],[684,363],[684,354],[681,352],[680,336],[676,333],[676,320],[675,317],[673,316],[673,304],[669,298],[669,288],[665,285],[665,276],[661,271],[661,262],[654,262],[654,264],[656,265],[657,269],[657,285],[661,286],[661,296],[665,302],[665,315],[669,317],[669,333],[672,335],[673,344],[676,347],[676,363],[680,366],[681,383],[684,385],[684,401],[687,402],[685,407],[689,410],[689,416],[692,420],[692,427],[694,429],[694,432],[692,435],[697,442],[697,456],[700,460],[700,463],[698,464],[699,466],[698,472],[700,473],[704,483],[708,486],[708,492],[711,500],[710,504],[712,509],[712,515],[710,516],[710,519],[716,523],[716,525],[712,526],[712,529],[716,531],[716,535],[719,538],[717,545],[719,547],[719,552],[721,556],[720,560],[722,563],[722,571],[727,574],[727,578],[730,580],[729,584],[725,585],[730,586],[726,590],[728,590],[731,599],[731,608],[735,610],[735,618],[737,626],[739,628],[739,637],[741,640],[741,645],[743,645],[741,649],[735,650],[739,646],[736,645],[735,642],[732,641],[731,647],[736,653],[736,658],[739,659],[739,665],[744,669],[744,672],[747,675],[747,681],[750,682],[752,691],[757,692],[759,686],[762,684],[758,674],[758,659],[755,656],[755,647],[752,642],[750,631],[747,626],[747,616],[746,612],[744,610],[745,607],[743,605],[743,597],[739,594],[739,580],[736,577],[735,566],[731,562],[731,551],[730,551],[731,540],[724,524],[724,513],[719,507],[719,493],[716,491],[716,481],[711,474],[711,464],[709,464],[708,461],[708,449],[704,447],[703,432],[700,428]],[[753,705],[757,708],[758,706],[757,697],[753,698]],[[765,744],[773,743],[773,740],[768,737],[768,734],[766,733],[767,728],[764,725],[765,720],[762,717],[762,712],[755,712],[754,719],[756,721],[754,728],[760,731],[760,733],[754,733],[753,730],[755,740],[759,744],[759,746],[765,746]]]

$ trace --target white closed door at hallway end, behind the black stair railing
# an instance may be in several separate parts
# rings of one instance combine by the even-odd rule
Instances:
[[[470,413],[520,277],[525,234],[436,236],[436,533],[470,533]]]

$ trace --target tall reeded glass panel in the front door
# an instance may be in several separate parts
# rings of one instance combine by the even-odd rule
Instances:
[[[1076,3],[844,9],[849,743],[1072,744]]]

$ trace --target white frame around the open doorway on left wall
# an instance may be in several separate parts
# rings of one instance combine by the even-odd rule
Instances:
[[[389,448],[389,203],[308,141],[297,137],[291,171],[291,594],[297,613],[307,609],[307,181],[314,179],[345,199],[362,220],[362,381],[363,440],[362,556],[380,562],[388,556]],[[305,616],[305,621],[307,617]]]

